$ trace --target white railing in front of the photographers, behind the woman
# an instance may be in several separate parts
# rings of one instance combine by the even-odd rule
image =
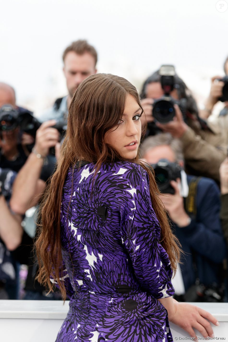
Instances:
[[[213,327],[214,340],[228,342],[228,303],[197,305],[219,321],[220,326]],[[68,301],[63,306],[61,301],[0,300],[0,341],[54,342],[68,308]],[[189,335],[184,330],[172,323],[170,328],[174,341],[187,341]]]

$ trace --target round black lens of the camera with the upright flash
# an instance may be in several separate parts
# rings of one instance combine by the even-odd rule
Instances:
[[[170,101],[161,100],[155,102],[153,105],[153,117],[161,122],[167,123],[172,121],[175,116],[175,109],[173,104]]]

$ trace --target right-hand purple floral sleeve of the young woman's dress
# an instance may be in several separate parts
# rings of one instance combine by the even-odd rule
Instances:
[[[151,206],[147,172],[139,166],[137,185],[127,181],[125,203],[121,204],[121,238],[141,287],[153,297],[174,294],[168,254],[161,246],[160,225]]]

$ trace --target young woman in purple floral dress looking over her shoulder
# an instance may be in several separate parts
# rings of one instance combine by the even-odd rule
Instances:
[[[36,244],[38,280],[70,298],[58,342],[172,341],[168,318],[192,337],[213,335],[212,315],[171,297],[180,252],[138,160],[142,113],[118,76],[90,76],[72,98]]]

